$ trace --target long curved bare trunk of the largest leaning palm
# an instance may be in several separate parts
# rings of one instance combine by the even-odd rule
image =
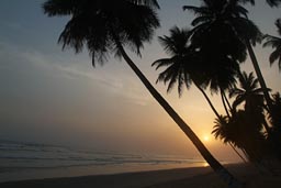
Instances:
[[[128,66],[142,80],[145,87],[148,89],[150,95],[158,101],[158,103],[165,109],[165,111],[173,119],[173,121],[179,125],[179,128],[186,133],[186,135],[195,145],[203,158],[209,163],[213,170],[228,185],[228,187],[243,187],[243,185],[218,163],[214,156],[207,151],[204,144],[199,140],[195,133],[189,128],[189,125],[179,117],[179,114],[171,108],[171,106],[161,97],[161,95],[153,87],[148,79],[143,75],[143,73],[137,68],[133,60],[128,57],[123,46],[119,42],[117,37],[114,38],[115,43]]]

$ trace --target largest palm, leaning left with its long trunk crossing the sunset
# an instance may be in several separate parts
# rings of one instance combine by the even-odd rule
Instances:
[[[108,54],[112,52],[122,56],[221,178],[229,186],[241,187],[240,183],[213,157],[195,133],[153,87],[124,49],[124,46],[128,46],[139,54],[143,43],[151,38],[153,31],[159,26],[155,12],[158,8],[156,0],[47,0],[43,8],[49,16],[70,15],[59,37],[63,47],[70,46],[79,53],[87,45],[92,59],[99,62],[106,59]]]

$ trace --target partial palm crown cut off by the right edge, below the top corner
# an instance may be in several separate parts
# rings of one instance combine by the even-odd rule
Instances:
[[[278,19],[276,21],[276,25],[278,27],[279,35],[281,35],[281,19]],[[266,42],[263,44],[263,47],[271,46],[272,48],[274,48],[274,51],[269,56],[270,65],[278,60],[279,70],[281,70],[281,37],[266,35],[265,40]]]

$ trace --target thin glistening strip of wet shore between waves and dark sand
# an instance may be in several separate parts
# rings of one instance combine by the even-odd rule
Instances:
[[[175,168],[205,167],[205,162],[200,163],[172,163],[172,164],[114,164],[114,165],[85,165],[56,168],[13,168],[0,172],[0,183],[22,181],[35,179],[49,179],[63,177],[81,177],[97,175],[117,175],[127,173],[166,170]]]

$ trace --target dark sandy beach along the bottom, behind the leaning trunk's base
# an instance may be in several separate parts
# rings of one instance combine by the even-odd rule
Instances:
[[[227,168],[247,188],[279,188],[281,176],[258,173],[251,165]],[[179,168],[115,175],[50,178],[0,184],[2,188],[224,188],[224,183],[210,167]]]

